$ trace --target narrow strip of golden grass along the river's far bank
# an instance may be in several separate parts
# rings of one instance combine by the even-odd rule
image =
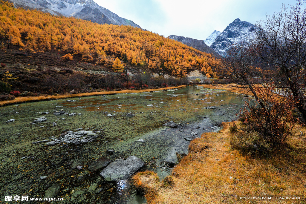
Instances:
[[[131,94],[131,93],[143,93],[150,91],[163,91],[167,89],[175,89],[186,87],[186,85],[176,86],[176,87],[166,87],[159,89],[142,89],[142,90],[122,90],[122,91],[101,91],[101,92],[91,92],[91,93],[80,93],[80,94],[67,94],[67,95],[53,95],[53,96],[33,96],[33,97],[16,97],[14,100],[0,101],[0,106],[13,105],[17,103],[27,103],[27,102],[37,102],[37,101],[48,101],[63,98],[76,98],[76,97],[86,97],[86,96],[99,96],[99,95],[114,95],[114,94]]]

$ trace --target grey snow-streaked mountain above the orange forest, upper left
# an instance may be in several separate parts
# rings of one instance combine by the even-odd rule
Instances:
[[[39,9],[54,15],[73,16],[99,24],[131,25],[140,28],[132,20],[99,6],[93,0],[10,0],[15,7]]]

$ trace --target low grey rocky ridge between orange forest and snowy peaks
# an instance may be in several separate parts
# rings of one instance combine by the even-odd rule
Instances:
[[[193,38],[185,38],[183,36],[178,36],[178,35],[169,35],[168,36],[169,39],[173,39],[176,41],[181,41],[181,43],[191,46],[197,50],[200,50],[202,52],[206,52],[206,53],[211,53],[213,54],[215,57],[220,57],[218,55],[218,53],[216,53],[216,51],[214,49],[212,49],[210,46],[207,46],[203,40],[197,40],[197,39],[193,39]]]

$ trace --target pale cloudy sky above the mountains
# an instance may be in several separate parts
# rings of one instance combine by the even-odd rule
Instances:
[[[164,35],[206,39],[236,18],[252,24],[296,0],[95,0],[141,28]]]

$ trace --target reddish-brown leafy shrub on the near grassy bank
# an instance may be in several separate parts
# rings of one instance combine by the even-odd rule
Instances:
[[[267,149],[266,151],[283,145],[295,126],[292,115],[295,99],[291,96],[276,96],[273,88],[273,86],[256,88],[260,99],[255,104],[251,104],[249,100],[245,104],[244,114],[240,116],[241,121],[251,130],[247,135],[240,136],[240,140],[245,143],[259,141],[260,145]],[[254,143],[254,145],[259,148],[259,144]],[[250,150],[249,145],[242,145],[241,148],[245,148],[244,152]]]

